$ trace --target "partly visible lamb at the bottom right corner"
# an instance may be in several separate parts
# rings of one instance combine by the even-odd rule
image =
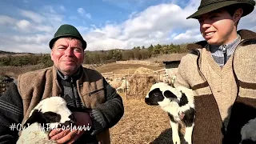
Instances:
[[[240,144],[256,143],[256,118],[251,119],[241,129],[242,140]]]

